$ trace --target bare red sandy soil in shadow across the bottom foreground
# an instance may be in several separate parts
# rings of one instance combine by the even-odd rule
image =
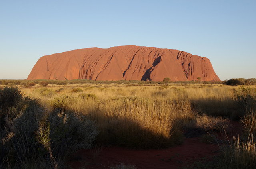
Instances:
[[[216,135],[220,140],[232,140],[233,136],[241,132],[239,122],[230,122],[226,132],[218,132]],[[93,149],[83,149],[75,153],[68,164],[74,169],[109,169],[120,163],[134,165],[138,169],[178,169],[200,158],[211,160],[218,155],[218,150],[218,144],[204,143],[195,137],[186,138],[182,145],[168,149],[138,150],[113,146],[103,147],[100,154]]]

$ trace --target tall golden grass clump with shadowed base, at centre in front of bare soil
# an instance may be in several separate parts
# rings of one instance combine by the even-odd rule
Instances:
[[[102,110],[96,116],[92,115],[100,128],[98,141],[107,144],[136,148],[180,144],[182,123],[193,116],[186,102],[177,106],[173,102],[163,104],[148,99],[109,101],[100,105]]]

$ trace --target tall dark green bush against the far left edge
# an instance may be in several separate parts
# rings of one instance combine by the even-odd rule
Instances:
[[[8,155],[11,155],[11,159],[19,161],[26,156],[22,154],[22,152],[29,151],[29,149],[23,149],[24,151],[21,152],[21,149],[19,148],[21,148],[22,145],[30,144],[33,140],[32,135],[29,137],[30,141],[27,140],[24,142],[24,135],[20,134],[26,134],[28,130],[33,128],[33,125],[29,125],[26,130],[20,128],[20,126],[15,126],[18,119],[23,117],[22,114],[30,110],[32,111],[32,107],[36,105],[36,100],[24,97],[23,93],[17,87],[6,86],[0,89],[0,167],[3,165],[4,161],[10,160],[8,158],[10,156]],[[26,118],[26,120],[27,122],[24,122],[23,124],[32,122],[28,118]],[[18,141],[20,142],[18,143]],[[18,145],[18,147],[16,145]],[[16,162],[14,161],[14,163]],[[9,166],[9,168],[13,167]]]

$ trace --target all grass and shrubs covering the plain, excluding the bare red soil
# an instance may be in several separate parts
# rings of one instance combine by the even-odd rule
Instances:
[[[165,149],[194,136],[219,145],[215,161],[207,160],[212,168],[256,167],[251,83],[44,82],[4,80],[0,86],[0,167],[65,168],[72,153],[94,145]],[[218,133],[228,135],[234,121],[242,133],[220,141]]]

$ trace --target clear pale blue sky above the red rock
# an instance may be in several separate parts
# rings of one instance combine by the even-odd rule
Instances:
[[[140,45],[208,57],[221,80],[256,77],[256,0],[0,0],[0,79],[87,47]]]

